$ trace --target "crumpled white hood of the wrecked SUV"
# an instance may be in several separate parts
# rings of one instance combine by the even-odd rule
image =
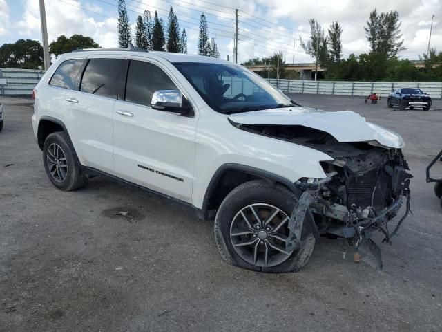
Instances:
[[[369,142],[385,147],[401,148],[403,138],[394,131],[367,122],[353,111],[329,112],[311,107],[285,107],[231,114],[238,124],[298,125],[325,131],[338,142]],[[376,144],[376,142],[378,144]]]

